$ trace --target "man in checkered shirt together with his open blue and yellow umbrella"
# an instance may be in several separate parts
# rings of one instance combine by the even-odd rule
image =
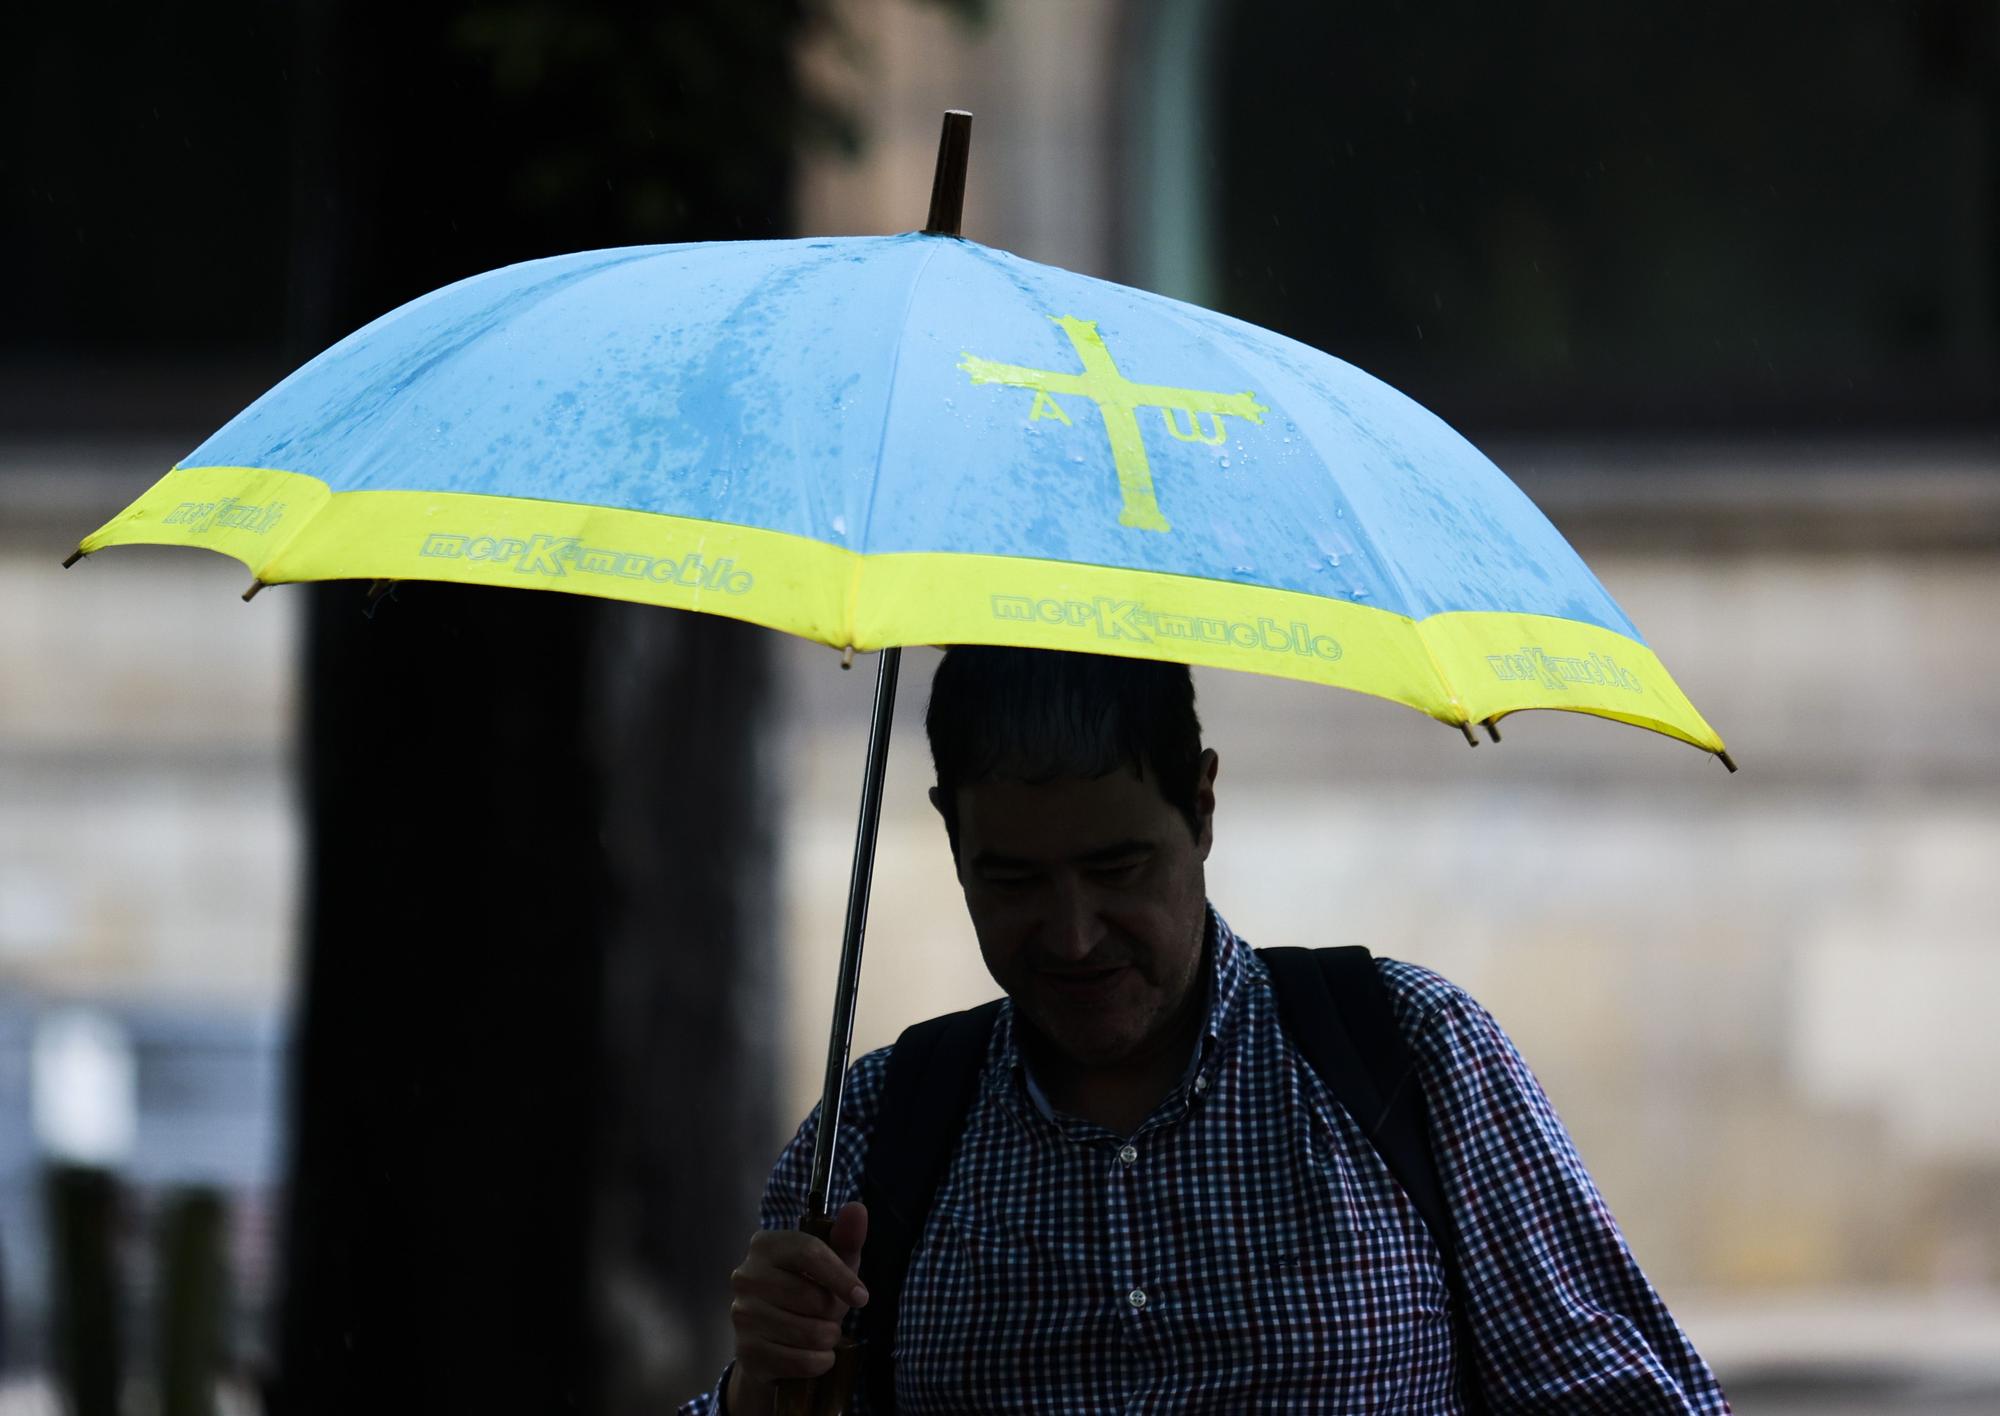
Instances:
[[[962,240],[968,124],[946,116],[920,232],[574,252],[412,300],[66,564],[200,546],[252,572],[244,598],[442,580],[878,650],[834,1124],[772,1176],[738,1362],[696,1410],[838,1406],[776,1384],[834,1362],[838,1388],[850,1306],[878,1412],[1726,1410],[1478,1004],[1360,952],[1254,954],[1208,906],[1186,666],[1374,694],[1468,742],[1562,708],[1734,770],[1722,738],[1428,410]],[[904,644],[1010,646],[952,650],[930,712],[1008,998],[848,1086]]]

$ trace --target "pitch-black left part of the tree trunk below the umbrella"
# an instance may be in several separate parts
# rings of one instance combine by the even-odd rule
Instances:
[[[316,588],[292,1412],[596,1410],[596,606]]]

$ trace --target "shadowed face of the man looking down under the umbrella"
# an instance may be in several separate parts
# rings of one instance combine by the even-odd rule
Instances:
[[[1214,780],[1204,752],[1198,832],[1134,768],[958,788],[958,882],[986,968],[1078,1066],[1158,1046],[1198,986]]]

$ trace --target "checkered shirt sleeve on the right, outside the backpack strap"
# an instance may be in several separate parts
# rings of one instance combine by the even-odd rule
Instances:
[[[1500,1024],[1426,970],[1384,962],[1384,982],[1430,1104],[1488,1408],[1728,1412]]]

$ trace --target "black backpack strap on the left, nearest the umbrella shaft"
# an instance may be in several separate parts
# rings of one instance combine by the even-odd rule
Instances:
[[[868,1158],[862,1162],[862,1204],[868,1242],[862,1244],[860,1312],[862,1390],[876,1416],[896,1410],[896,1308],[910,1254],[930,1218],[932,1200],[966,1128],[980,1088],[980,1068],[992,1042],[1000,1000],[930,1018],[904,1030],[882,1074],[882,1098]]]

